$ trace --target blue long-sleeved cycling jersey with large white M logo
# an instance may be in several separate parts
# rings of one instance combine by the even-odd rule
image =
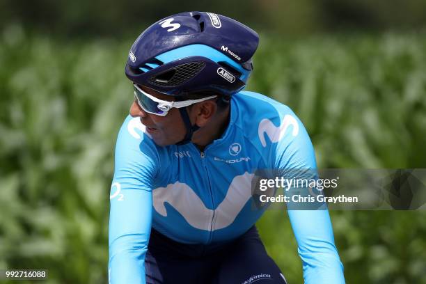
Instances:
[[[250,202],[255,171],[288,168],[316,168],[313,146],[290,108],[258,93],[232,96],[226,131],[203,152],[192,143],[157,146],[140,118],[127,117],[111,186],[110,283],[145,283],[151,227],[186,244],[244,234],[265,211]],[[345,283],[328,211],[288,215],[305,283]]]

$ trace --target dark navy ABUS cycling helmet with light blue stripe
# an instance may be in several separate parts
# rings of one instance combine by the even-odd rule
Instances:
[[[126,76],[166,95],[233,95],[246,86],[259,36],[234,19],[204,12],[152,24],[129,52]]]

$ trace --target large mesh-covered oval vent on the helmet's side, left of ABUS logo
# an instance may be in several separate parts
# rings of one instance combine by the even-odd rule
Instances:
[[[161,87],[180,86],[195,77],[204,67],[205,63],[202,61],[185,63],[161,72],[157,76],[148,79],[148,81],[153,85]]]

